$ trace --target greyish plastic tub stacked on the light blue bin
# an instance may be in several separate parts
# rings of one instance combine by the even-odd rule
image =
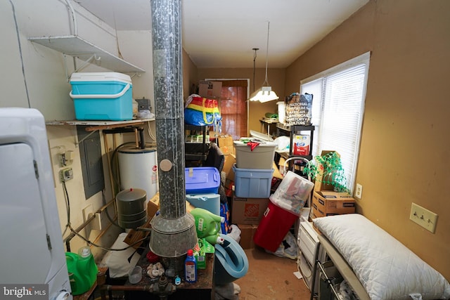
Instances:
[[[253,150],[242,140],[234,141],[236,150],[236,167],[239,169],[272,169],[276,143],[258,141]]]

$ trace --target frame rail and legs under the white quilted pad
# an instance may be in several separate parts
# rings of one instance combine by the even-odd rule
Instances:
[[[353,289],[353,292],[358,296],[360,300],[370,300],[371,298],[368,296],[366,289],[364,289],[363,285],[361,285],[361,282],[359,282],[359,279],[354,274],[352,268],[349,266],[347,261],[345,261],[344,257],[338,252],[338,250],[333,246],[333,244],[328,241],[326,237],[323,235],[318,235],[319,238],[319,247],[323,247],[328,257],[333,261],[334,266],[338,269],[340,275],[347,281],[349,286]],[[320,261],[318,259],[319,249],[316,252],[316,264],[313,268],[313,276],[316,278],[317,276],[317,270],[318,268],[321,270],[321,272],[324,274],[324,277],[328,281],[328,284],[330,284],[330,280],[328,280],[328,275],[326,274],[325,268],[323,267],[324,261]],[[311,291],[314,291],[314,285],[316,280],[312,280],[312,287]],[[335,289],[333,288],[333,285],[330,285],[331,291],[335,295],[336,299],[340,299],[338,294],[336,293]],[[311,292],[311,300],[314,299],[314,292]]]

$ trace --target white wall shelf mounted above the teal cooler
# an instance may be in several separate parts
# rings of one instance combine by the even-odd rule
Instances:
[[[28,40],[114,72],[146,72],[76,35],[29,37]]]

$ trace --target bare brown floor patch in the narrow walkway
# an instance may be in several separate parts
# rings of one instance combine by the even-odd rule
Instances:
[[[297,279],[297,262],[269,254],[261,248],[245,249],[249,261],[247,275],[235,280],[239,300],[307,300],[309,289]]]

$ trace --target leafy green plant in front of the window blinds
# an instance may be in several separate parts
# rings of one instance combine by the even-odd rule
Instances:
[[[318,155],[311,159],[304,167],[304,174],[311,180],[318,180],[319,174],[322,174],[321,182],[333,185],[336,192],[349,191],[340,156],[335,151],[328,152],[325,155]]]

